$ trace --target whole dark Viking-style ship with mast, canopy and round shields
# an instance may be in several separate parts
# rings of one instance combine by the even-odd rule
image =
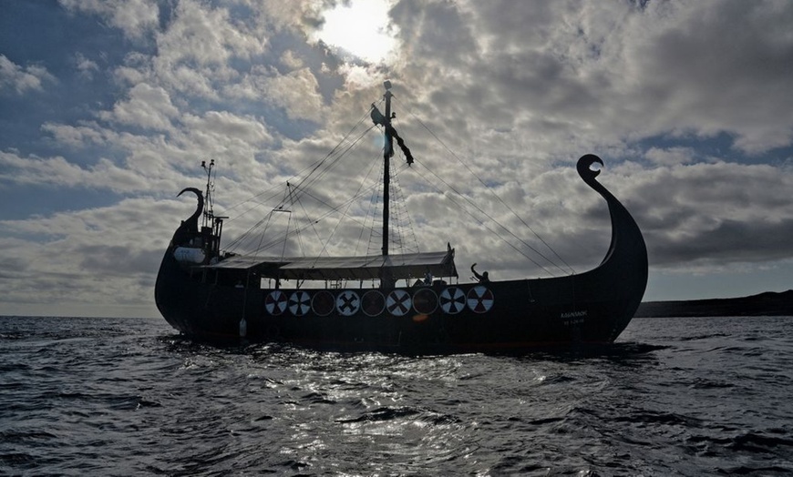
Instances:
[[[631,214],[596,179],[602,159],[587,154],[577,164],[583,182],[605,199],[611,218],[611,242],[600,265],[582,273],[505,280],[471,266],[473,276],[460,277],[447,239],[437,251],[397,253],[389,247],[395,141],[408,167],[415,159],[394,127],[390,82],[385,86],[385,114],[375,104],[368,111],[385,137],[379,253],[306,257],[221,247],[227,217],[214,214],[214,160],[204,162],[206,189],[180,192],[194,194],[198,204],[176,229],[160,264],[155,301],[165,320],[192,340],[274,341],[319,350],[446,354],[612,343],[644,296],[647,251]],[[278,212],[288,211],[282,205],[270,215]],[[456,235],[461,234],[448,230],[449,238]]]

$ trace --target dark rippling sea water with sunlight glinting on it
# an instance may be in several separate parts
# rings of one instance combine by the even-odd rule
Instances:
[[[633,320],[520,357],[0,318],[3,475],[787,475],[791,398],[791,317]]]

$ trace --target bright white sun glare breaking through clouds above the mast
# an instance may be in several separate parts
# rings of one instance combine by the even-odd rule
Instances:
[[[338,48],[368,63],[385,61],[397,45],[388,25],[387,0],[352,0],[324,13],[324,25],[314,40]]]

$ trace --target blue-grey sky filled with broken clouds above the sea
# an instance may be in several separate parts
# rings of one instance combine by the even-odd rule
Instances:
[[[264,202],[325,157],[386,78],[417,157],[395,165],[422,251],[451,242],[459,269],[545,276],[514,240],[485,238],[499,226],[449,212],[462,203],[550,256],[541,237],[576,271],[597,265],[608,215],[574,170],[595,153],[602,184],[644,231],[645,299],[793,288],[788,0],[0,0],[0,10],[0,315],[158,316],[162,251],[195,204],[176,194],[203,187],[201,160],[218,164],[215,211],[231,217],[233,239],[254,220],[234,221],[242,201]],[[369,137],[371,158],[342,177],[377,163]]]

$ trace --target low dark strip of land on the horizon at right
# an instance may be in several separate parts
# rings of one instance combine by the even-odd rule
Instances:
[[[793,289],[733,299],[645,301],[635,318],[793,316]]]

